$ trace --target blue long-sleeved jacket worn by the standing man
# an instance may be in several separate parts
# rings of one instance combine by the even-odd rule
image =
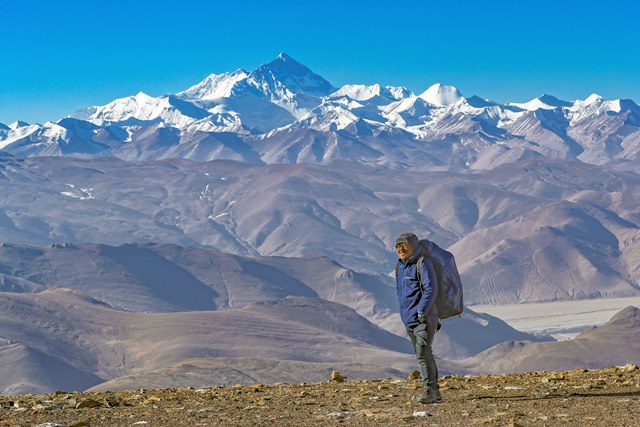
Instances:
[[[396,265],[396,290],[400,303],[400,317],[407,328],[415,328],[420,324],[418,314],[424,315],[427,319],[438,319],[438,309],[435,304],[438,294],[436,273],[431,261],[423,258],[420,272],[422,286],[420,286],[417,263],[421,256],[422,247],[418,247],[405,263],[398,260]]]

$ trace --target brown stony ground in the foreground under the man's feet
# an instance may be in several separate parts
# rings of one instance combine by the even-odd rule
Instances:
[[[0,426],[640,426],[640,369],[0,397]]]

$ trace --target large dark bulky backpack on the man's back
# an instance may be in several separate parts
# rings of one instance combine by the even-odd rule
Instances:
[[[426,257],[431,261],[438,280],[438,295],[436,297],[436,307],[441,319],[452,317],[462,313],[464,303],[462,301],[462,281],[456,266],[453,254],[442,249],[430,240],[420,240],[422,244],[422,256],[418,258],[417,271],[418,281],[422,284],[420,270]]]

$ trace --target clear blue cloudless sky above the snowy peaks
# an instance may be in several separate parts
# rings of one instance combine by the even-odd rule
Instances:
[[[329,80],[640,103],[640,2],[0,1],[0,122],[175,93],[286,52]]]

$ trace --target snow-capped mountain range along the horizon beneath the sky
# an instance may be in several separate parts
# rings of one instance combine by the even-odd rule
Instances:
[[[140,92],[56,123],[0,124],[0,150],[257,164],[344,159],[394,169],[488,169],[535,156],[603,165],[640,157],[640,106],[598,95],[499,104],[441,84],[418,95],[336,88],[283,53],[176,94]]]

